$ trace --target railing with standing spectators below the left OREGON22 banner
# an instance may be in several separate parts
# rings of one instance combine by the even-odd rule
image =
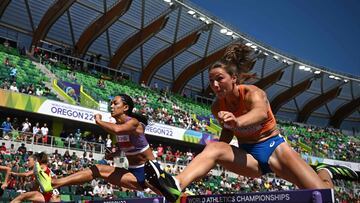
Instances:
[[[71,140],[58,136],[44,136],[41,134],[41,131],[36,135],[31,132],[22,132],[15,129],[11,129],[10,131],[8,131],[4,128],[0,128],[0,131],[0,139],[12,142],[25,142],[31,145],[44,145],[47,147],[63,148],[68,150],[80,150],[100,154],[104,154],[106,150],[105,144],[85,140],[77,140],[75,137],[73,140]]]

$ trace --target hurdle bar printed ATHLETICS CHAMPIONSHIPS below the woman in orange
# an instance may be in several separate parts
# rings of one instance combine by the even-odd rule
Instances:
[[[181,197],[181,203],[333,203],[334,191],[332,189],[321,190],[284,190],[272,192],[251,192],[223,195],[197,195]]]

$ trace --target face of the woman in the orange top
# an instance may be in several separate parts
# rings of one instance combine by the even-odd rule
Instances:
[[[210,87],[217,97],[224,97],[227,93],[232,92],[236,84],[236,77],[231,76],[225,69],[213,68],[209,71]]]

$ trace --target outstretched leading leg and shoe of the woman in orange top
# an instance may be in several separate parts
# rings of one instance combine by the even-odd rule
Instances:
[[[145,176],[170,202],[175,202],[181,191],[192,181],[206,175],[216,164],[238,174],[258,177],[261,175],[258,162],[244,150],[224,142],[208,144],[194,160],[176,177],[160,169],[158,164],[148,161]]]

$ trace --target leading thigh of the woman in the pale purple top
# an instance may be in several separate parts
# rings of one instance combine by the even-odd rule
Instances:
[[[124,168],[103,165],[99,168],[102,178],[107,182],[128,189],[143,190],[136,177]]]

